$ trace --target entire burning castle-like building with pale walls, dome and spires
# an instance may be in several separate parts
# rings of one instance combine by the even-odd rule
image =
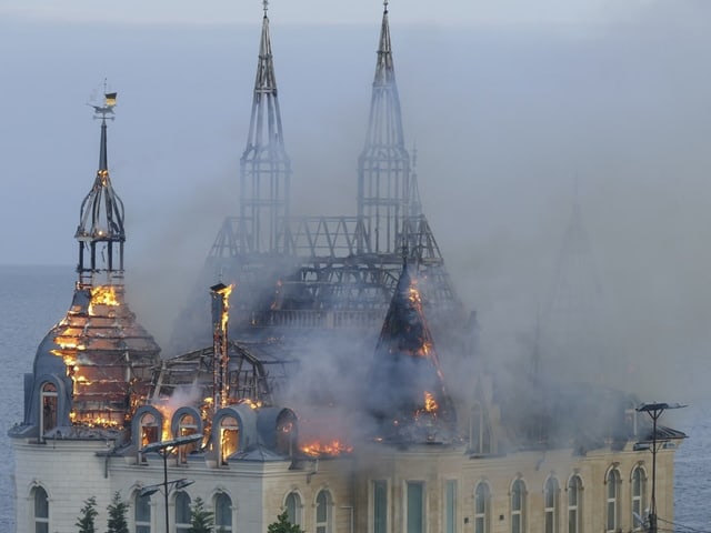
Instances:
[[[117,492],[137,533],[187,531],[197,497],[224,532],[263,532],[284,511],[317,533],[618,532],[650,506],[671,519],[683,434],[638,420],[630,394],[524,372],[502,389],[478,364],[404,148],[388,2],[353,217],[290,214],[264,11],[239,215],[163,359],[124,301],[114,102],[96,108],[72,304],[10,430],[18,533],[73,531],[87,497],[102,507]],[[448,386],[450,359],[465,390]],[[349,379],[319,379],[324,364]]]

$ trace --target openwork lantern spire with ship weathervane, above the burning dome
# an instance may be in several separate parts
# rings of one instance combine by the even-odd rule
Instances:
[[[122,284],[123,278],[123,202],[113,191],[109,177],[107,150],[107,120],[111,120],[116,93],[104,94],[103,105],[93,105],[94,117],[101,119],[99,169],[91,191],[81,203],[79,227],[74,238],[79,241],[79,284]],[[106,274],[106,279],[97,276]]]

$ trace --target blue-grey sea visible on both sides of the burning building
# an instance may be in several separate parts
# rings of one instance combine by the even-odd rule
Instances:
[[[0,265],[0,368],[4,369],[0,450],[7,454],[0,461],[0,533],[11,533],[16,525],[14,457],[7,432],[22,421],[23,375],[32,372],[40,341],[69,309],[74,280],[72,266]],[[683,415],[673,414],[674,428],[689,438],[675,455],[675,516],[673,523],[660,516],[659,531],[711,532],[711,457],[707,455],[711,442],[711,392],[707,399],[690,402]]]

